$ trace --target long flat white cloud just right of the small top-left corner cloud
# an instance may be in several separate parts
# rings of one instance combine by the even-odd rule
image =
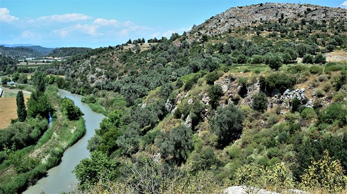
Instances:
[[[37,21],[43,21],[43,22],[71,22],[71,21],[81,21],[81,20],[87,20],[90,19],[88,15],[79,14],[79,13],[67,13],[64,15],[49,15],[49,16],[43,16],[39,17]]]

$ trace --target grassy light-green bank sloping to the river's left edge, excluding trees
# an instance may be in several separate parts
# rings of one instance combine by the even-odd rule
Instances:
[[[60,96],[57,88],[49,86],[47,97],[55,110],[51,127],[42,135],[36,145],[22,150],[7,152],[7,159],[0,165],[0,193],[21,193],[29,186],[44,177],[47,170],[60,164],[63,153],[71,145],[79,141],[86,133],[84,119],[70,121],[63,115],[60,107]],[[13,158],[21,160],[25,165],[31,165],[26,170],[17,170]],[[11,160],[12,159],[12,160]]]

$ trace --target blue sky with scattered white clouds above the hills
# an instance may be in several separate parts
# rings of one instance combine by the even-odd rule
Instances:
[[[170,37],[234,6],[259,0],[0,0],[0,44],[115,46]],[[271,2],[298,3],[299,0]],[[301,0],[346,8],[345,0]]]

